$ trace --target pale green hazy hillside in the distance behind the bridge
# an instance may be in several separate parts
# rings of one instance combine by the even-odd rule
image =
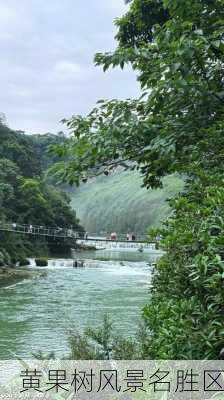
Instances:
[[[163,189],[146,190],[135,172],[117,172],[81,185],[72,193],[72,206],[87,231],[92,233],[144,233],[158,226],[169,213],[167,198],[183,187],[177,176],[164,179]]]

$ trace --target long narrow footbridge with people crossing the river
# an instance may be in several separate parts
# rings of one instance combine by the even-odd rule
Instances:
[[[131,250],[131,251],[156,251],[156,243],[148,242],[144,234],[136,235],[135,240],[127,240],[126,234],[118,234],[111,239],[105,234],[88,233],[72,228],[46,227],[37,225],[23,225],[17,223],[0,222],[0,231],[12,232],[20,235],[51,237],[53,239],[69,239],[71,244],[78,244],[85,248],[97,250]]]

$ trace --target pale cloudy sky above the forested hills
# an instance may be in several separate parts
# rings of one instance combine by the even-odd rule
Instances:
[[[13,129],[56,133],[98,99],[138,95],[131,70],[104,73],[96,52],[115,48],[123,0],[0,0],[0,112]]]

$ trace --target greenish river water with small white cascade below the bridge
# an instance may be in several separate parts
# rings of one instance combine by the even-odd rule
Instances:
[[[116,332],[136,332],[148,298],[149,254],[98,251],[77,257],[83,268],[73,268],[72,259],[49,260],[39,268],[46,276],[0,288],[0,359],[31,358],[39,350],[65,355],[69,332],[99,325],[106,313]]]

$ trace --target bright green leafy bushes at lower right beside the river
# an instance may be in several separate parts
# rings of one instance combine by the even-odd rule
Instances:
[[[152,280],[144,318],[152,358],[219,359],[224,347],[222,174],[189,182],[162,230],[167,255]]]

